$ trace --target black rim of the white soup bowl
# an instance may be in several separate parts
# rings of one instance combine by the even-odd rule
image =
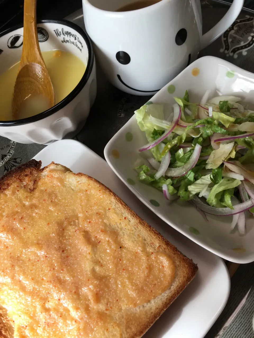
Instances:
[[[48,110],[45,110],[44,112],[31,116],[31,117],[26,117],[25,119],[20,119],[20,120],[11,120],[11,121],[0,121],[0,126],[16,126],[16,125],[22,125],[22,124],[28,124],[28,123],[32,123],[32,122],[36,122],[39,120],[44,119],[45,117],[48,117],[56,112],[58,112],[60,109],[62,109],[64,106],[66,106],[70,101],[72,101],[82,90],[82,88],[84,88],[85,84],[87,83],[91,72],[92,72],[92,68],[93,68],[93,64],[94,64],[94,54],[93,54],[93,50],[92,50],[92,44],[91,44],[91,40],[89,39],[88,35],[84,32],[84,30],[70,22],[67,20],[41,20],[39,22],[37,22],[37,25],[42,24],[42,23],[58,23],[58,24],[62,24],[64,26],[70,27],[75,29],[85,40],[86,45],[87,45],[87,49],[88,49],[88,62],[87,62],[87,66],[86,66],[86,70],[84,75],[82,76],[81,80],[79,81],[79,83],[77,84],[77,86],[70,92],[69,95],[67,95],[62,101],[60,101],[59,103],[57,103],[56,105],[54,105],[53,107],[49,108]],[[6,29],[5,31],[0,33],[0,38],[3,35],[8,34],[9,32],[15,31],[16,29],[22,28],[23,24],[17,25],[15,27],[11,27]]]

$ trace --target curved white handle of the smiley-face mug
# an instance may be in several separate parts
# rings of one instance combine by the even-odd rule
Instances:
[[[244,0],[234,0],[224,17],[200,39],[200,50],[207,47],[223,34],[238,17]]]

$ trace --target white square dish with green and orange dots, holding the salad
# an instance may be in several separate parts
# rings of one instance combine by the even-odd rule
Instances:
[[[190,94],[190,102],[200,102],[205,91],[211,90],[210,97],[235,95],[241,97],[243,104],[248,104],[250,109],[254,107],[254,74],[217,57],[205,56],[197,59],[149,102],[172,105],[175,103],[173,97],[183,97],[186,90]],[[133,168],[141,164],[138,149],[145,144],[145,133],[139,129],[135,117],[132,116],[106,145],[106,161],[128,188],[173,228],[224,259],[237,263],[253,262],[253,217],[247,217],[245,236],[240,236],[237,231],[230,233],[232,217],[207,215],[206,221],[189,203],[169,202],[162,192],[136,180]],[[146,163],[146,160],[143,159],[142,163]]]

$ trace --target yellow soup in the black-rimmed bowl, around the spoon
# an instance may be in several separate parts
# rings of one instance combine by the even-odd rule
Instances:
[[[86,70],[79,57],[69,52],[50,50],[42,52],[55,93],[55,104],[63,100],[79,83]],[[13,120],[12,95],[19,62],[0,75],[0,120]],[[19,113],[19,119],[30,117],[45,111],[48,107],[41,98],[31,100],[27,109]]]

